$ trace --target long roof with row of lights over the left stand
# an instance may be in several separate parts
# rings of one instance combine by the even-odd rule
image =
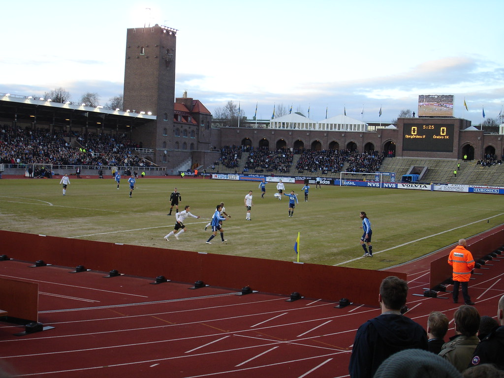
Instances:
[[[32,96],[0,94],[0,118],[18,122],[41,122],[56,126],[125,129],[156,119],[155,115],[61,104]]]

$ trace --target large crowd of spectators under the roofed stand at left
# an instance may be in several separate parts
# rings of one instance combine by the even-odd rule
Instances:
[[[23,130],[9,125],[0,129],[0,162],[4,164],[151,165],[132,153],[137,146],[126,135]]]

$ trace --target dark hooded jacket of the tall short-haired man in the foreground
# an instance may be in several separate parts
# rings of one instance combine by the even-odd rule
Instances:
[[[422,326],[403,315],[381,314],[357,330],[348,371],[351,378],[372,378],[389,356],[413,348],[428,350]]]

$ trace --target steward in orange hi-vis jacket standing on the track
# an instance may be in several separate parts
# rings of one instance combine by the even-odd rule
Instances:
[[[460,239],[459,244],[450,252],[448,264],[453,267],[453,302],[459,301],[459,286],[462,285],[464,302],[473,305],[474,302],[467,292],[467,285],[474,268],[474,259],[466,246],[466,239]]]

